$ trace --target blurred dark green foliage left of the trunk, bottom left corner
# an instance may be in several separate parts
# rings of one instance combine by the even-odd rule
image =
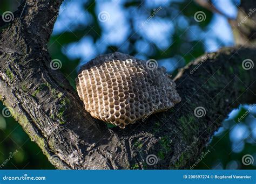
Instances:
[[[3,111],[0,104],[0,111]],[[1,113],[2,114],[2,113]],[[17,151],[16,151],[17,150]],[[1,165],[4,166],[1,166]],[[14,118],[0,115],[0,169],[53,169]]]

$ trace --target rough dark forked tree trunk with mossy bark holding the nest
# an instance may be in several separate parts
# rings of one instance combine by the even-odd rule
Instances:
[[[107,128],[50,68],[47,43],[61,2],[28,0],[0,43],[1,100],[56,168],[188,168],[228,112],[255,103],[256,67],[245,70],[242,61],[255,59],[256,49],[223,48],[180,70],[176,83],[183,100],[173,109],[124,130]],[[194,115],[197,107],[206,109],[204,117]],[[157,155],[157,164],[146,164],[150,154]]]

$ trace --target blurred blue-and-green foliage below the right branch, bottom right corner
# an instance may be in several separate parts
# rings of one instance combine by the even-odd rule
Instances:
[[[255,107],[256,105],[254,105]],[[251,106],[240,106],[223,122],[204,152],[210,154],[196,169],[255,169],[256,168],[256,111]],[[241,118],[244,117],[244,118]],[[244,165],[242,157],[250,154],[253,164]],[[247,157],[248,158],[248,157]],[[246,163],[246,160],[244,160]],[[247,160],[250,161],[250,160]]]

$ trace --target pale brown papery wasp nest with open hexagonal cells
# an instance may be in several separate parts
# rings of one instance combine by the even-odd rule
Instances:
[[[138,119],[172,108],[180,102],[176,84],[156,68],[133,56],[100,55],[80,69],[77,91],[91,116],[125,128]]]

